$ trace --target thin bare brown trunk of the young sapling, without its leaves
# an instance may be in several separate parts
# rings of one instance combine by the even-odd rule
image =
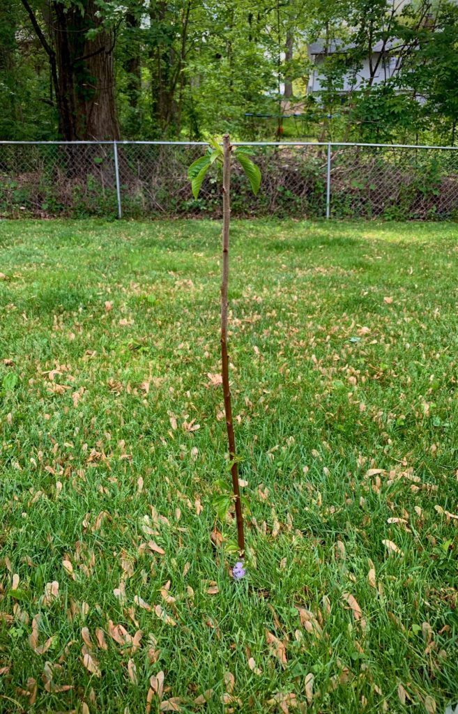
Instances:
[[[230,231],[230,137],[223,136],[223,281],[221,283],[221,374],[223,376],[224,411],[228,428],[230,473],[235,501],[237,541],[240,555],[245,551],[243,536],[242,503],[238,483],[238,466],[235,455],[235,436],[230,401],[229,356],[228,356],[228,281],[229,281],[229,231]]]

